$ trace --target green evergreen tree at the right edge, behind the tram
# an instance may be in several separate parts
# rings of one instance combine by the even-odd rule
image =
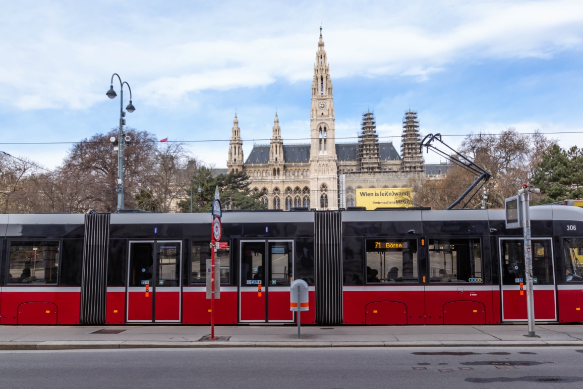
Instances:
[[[546,195],[543,204],[583,198],[583,149],[554,145],[538,164],[532,183]]]

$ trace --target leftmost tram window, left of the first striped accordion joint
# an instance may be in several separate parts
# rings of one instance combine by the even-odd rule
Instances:
[[[58,241],[10,242],[8,283],[57,283]]]

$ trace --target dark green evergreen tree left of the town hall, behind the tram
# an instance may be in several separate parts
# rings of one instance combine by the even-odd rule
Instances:
[[[264,192],[251,193],[247,174],[243,171],[212,176],[212,171],[208,167],[201,167],[192,177],[201,183],[202,191],[198,192],[196,183],[192,181],[192,212],[210,212],[213,200],[215,199],[215,188],[219,186],[221,205],[227,200],[227,207],[232,201],[231,209],[265,209],[266,205],[260,201]],[[182,212],[190,212],[190,189],[187,190],[187,199],[178,203]],[[230,197],[231,199],[227,199]],[[223,208],[225,208],[223,206]]]

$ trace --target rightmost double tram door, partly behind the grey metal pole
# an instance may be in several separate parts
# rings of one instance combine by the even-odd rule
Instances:
[[[532,275],[535,320],[556,321],[554,261],[551,239],[532,239]],[[502,320],[526,321],[524,240],[500,239]],[[524,290],[520,290],[520,283]]]

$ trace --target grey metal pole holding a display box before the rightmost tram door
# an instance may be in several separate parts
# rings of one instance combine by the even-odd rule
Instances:
[[[524,233],[524,273],[526,277],[526,314],[528,317],[528,336],[536,337],[535,332],[535,296],[533,294],[532,275],[532,241],[531,241],[531,212],[530,192],[539,193],[540,189],[529,188],[528,184],[522,184],[518,191],[522,206],[522,231]]]

